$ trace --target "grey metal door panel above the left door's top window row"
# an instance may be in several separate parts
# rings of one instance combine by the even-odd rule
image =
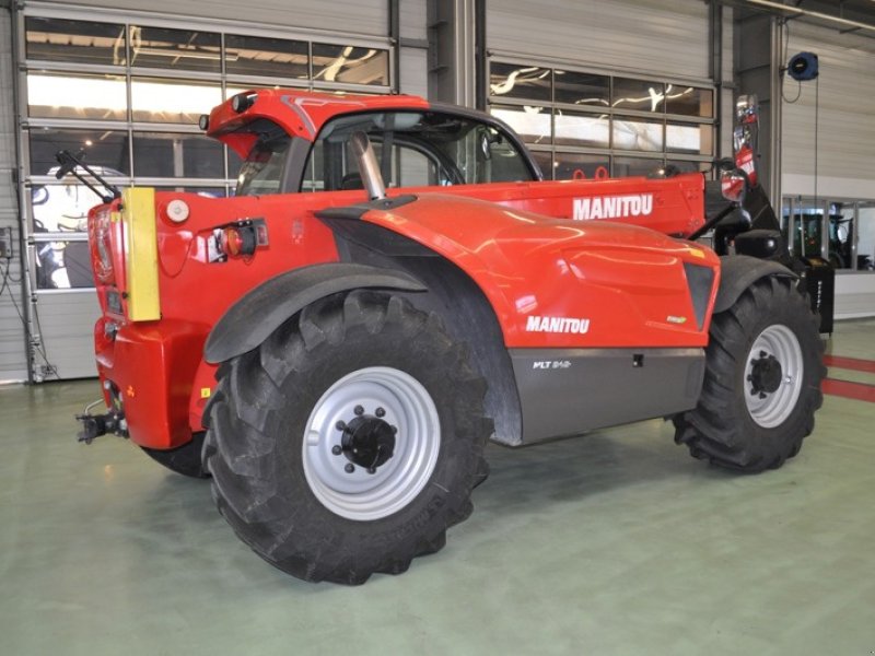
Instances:
[[[65,3],[58,3],[62,5]],[[78,5],[100,7],[118,12],[145,9],[141,0],[78,0]],[[262,23],[278,27],[315,28],[349,32],[364,36],[386,36],[386,0],[152,0],[150,14],[209,16],[211,19]]]

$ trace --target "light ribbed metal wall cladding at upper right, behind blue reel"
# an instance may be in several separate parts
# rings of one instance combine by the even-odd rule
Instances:
[[[817,80],[801,83],[784,79],[784,195],[810,194],[810,190],[794,189],[789,184],[793,180],[788,180],[786,176],[805,176],[804,180],[813,181],[816,125],[818,195],[875,198],[872,186],[875,179],[873,40],[793,23],[786,51],[788,57],[800,51],[815,52],[820,74]],[[788,102],[797,95],[796,102]],[[807,186],[813,188],[812,184]]]

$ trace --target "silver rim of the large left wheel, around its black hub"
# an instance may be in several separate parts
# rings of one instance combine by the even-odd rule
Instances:
[[[338,426],[352,421],[357,408],[397,429],[393,456],[373,473],[338,453]],[[422,384],[396,368],[362,368],[331,385],[313,408],[302,447],[304,476],[326,508],[370,522],[416,499],[434,471],[440,448],[438,408]]]

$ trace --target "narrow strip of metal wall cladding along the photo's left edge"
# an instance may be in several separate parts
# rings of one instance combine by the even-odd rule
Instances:
[[[15,168],[15,119],[12,98],[12,22],[8,11],[0,11],[0,230],[12,227],[18,239],[19,221],[15,202],[15,185],[12,171]],[[13,259],[0,262],[10,277],[21,280],[19,244],[13,245]],[[0,277],[2,273],[0,273]],[[2,279],[0,278],[0,286]],[[21,307],[21,283],[9,281],[9,290],[0,295],[0,380],[24,380],[27,378],[27,358],[24,350],[24,327],[12,305],[10,293]]]

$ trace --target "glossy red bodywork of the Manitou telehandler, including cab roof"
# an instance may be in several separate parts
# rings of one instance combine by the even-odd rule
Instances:
[[[233,130],[254,118],[269,118],[290,134],[313,141],[339,114],[428,106],[408,96],[260,91],[258,102],[245,112],[234,112],[230,103],[217,107],[209,133],[245,154],[254,137]],[[371,210],[361,220],[419,242],[465,271],[495,311],[508,348],[707,343],[708,320],[703,326],[687,320],[693,308],[678,271],[685,262],[704,266],[718,280],[719,259],[707,248],[666,236],[682,237],[703,223],[699,174],[389,190],[390,197],[400,195],[418,198],[396,210]],[[184,223],[170,218],[173,200],[183,200],[189,209]],[[365,200],[361,190],[225,199],[158,192],[161,318],[147,321],[128,318],[125,229],[109,220],[118,201],[113,208],[92,210],[92,256],[103,311],[95,326],[97,367],[101,379],[112,383],[107,405],[118,403],[113,397],[120,397],[135,443],[172,448],[202,430],[202,410],[214,386],[215,367],[202,358],[211,328],[232,304],[266,280],[307,265],[338,261],[335,236],[315,212]],[[639,215],[581,220],[609,214],[611,203],[615,209],[637,204]],[[255,218],[265,221],[266,245],[253,255],[210,261],[210,238],[218,226]],[[101,257],[107,251],[112,253],[108,268],[106,257]],[[715,290],[716,284],[707,317]],[[527,331],[532,315],[585,317],[591,329],[585,335]]]

